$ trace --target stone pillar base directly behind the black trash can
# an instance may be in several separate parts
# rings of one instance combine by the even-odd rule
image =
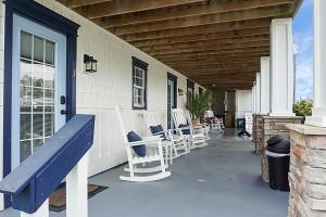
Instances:
[[[268,178],[268,162],[265,155],[266,141],[275,136],[280,135],[290,138],[290,130],[286,127],[288,124],[301,124],[302,117],[288,116],[288,117],[273,117],[262,116],[263,119],[263,136],[261,143],[261,166],[262,166],[262,179],[265,182],[269,181]]]

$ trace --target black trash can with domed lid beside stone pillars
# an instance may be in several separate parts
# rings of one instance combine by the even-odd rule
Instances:
[[[274,136],[267,141],[269,187],[274,190],[290,191],[288,173],[290,167],[290,140]]]

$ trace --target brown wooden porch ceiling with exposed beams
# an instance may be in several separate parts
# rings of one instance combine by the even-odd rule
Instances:
[[[209,89],[250,89],[302,0],[58,0]]]

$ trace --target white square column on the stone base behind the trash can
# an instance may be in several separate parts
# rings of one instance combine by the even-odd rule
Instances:
[[[292,18],[272,21],[271,98],[271,116],[296,116]]]

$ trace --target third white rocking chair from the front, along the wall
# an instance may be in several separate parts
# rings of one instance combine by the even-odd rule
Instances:
[[[188,118],[184,110],[173,108],[172,114],[173,114],[173,120],[175,123],[176,129],[190,131],[189,135],[185,135],[181,131],[190,149],[202,148],[206,145],[204,129],[202,127],[193,128],[191,125],[191,120],[190,123],[187,120]],[[187,127],[180,127],[180,125],[187,125]]]

